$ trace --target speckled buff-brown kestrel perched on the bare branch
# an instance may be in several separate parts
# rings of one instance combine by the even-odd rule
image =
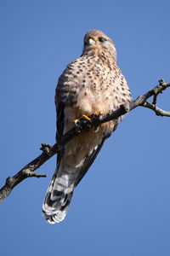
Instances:
[[[130,101],[127,81],[116,64],[115,44],[104,32],[88,31],[82,55],[67,65],[55,90],[56,141],[78,125],[79,120],[111,113]],[[72,138],[57,155],[54,176],[42,205],[42,215],[49,224],[65,218],[74,189],[121,120],[119,117],[98,128],[92,127]]]

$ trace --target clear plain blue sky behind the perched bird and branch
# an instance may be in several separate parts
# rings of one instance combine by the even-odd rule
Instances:
[[[54,90],[82,38],[99,29],[116,44],[133,99],[170,81],[170,2],[0,1],[0,186],[54,143]],[[170,109],[167,90],[159,106]],[[0,206],[1,255],[170,255],[170,119],[128,113],[77,187],[60,224],[42,218],[56,157]]]

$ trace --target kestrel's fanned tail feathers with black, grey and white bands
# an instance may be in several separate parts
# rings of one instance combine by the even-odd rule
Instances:
[[[65,218],[75,188],[75,170],[60,171],[56,169],[54,172],[42,205],[42,215],[49,224],[59,223]]]

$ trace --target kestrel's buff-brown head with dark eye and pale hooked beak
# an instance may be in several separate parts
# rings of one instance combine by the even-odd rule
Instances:
[[[84,36],[83,53],[91,49],[107,50],[116,60],[116,48],[113,41],[99,30],[91,30]]]

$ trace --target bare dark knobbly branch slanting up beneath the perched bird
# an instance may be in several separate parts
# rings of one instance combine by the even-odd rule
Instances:
[[[82,132],[89,131],[93,126],[99,126],[105,122],[111,121],[112,119],[117,119],[125,113],[133,110],[137,107],[150,108],[153,110],[156,115],[160,116],[170,116],[170,112],[164,111],[161,108],[156,107],[156,99],[157,96],[162,93],[163,90],[166,90],[167,87],[170,87],[170,83],[165,83],[162,79],[159,81],[159,84],[156,85],[155,88],[149,90],[143,96],[139,96],[133,102],[125,103],[120,106],[116,111],[112,113],[108,113],[105,115],[99,115],[99,117],[95,116],[91,119],[90,123],[82,123],[80,121],[80,125],[75,125],[71,131],[68,131],[63,137],[61,137],[58,143],[55,143],[54,146],[51,146],[46,143],[42,143],[42,154],[40,154],[35,160],[32,160],[29,164],[24,166],[20,172],[16,173],[14,177],[8,177],[6,179],[6,183],[2,189],[0,189],[0,203],[7,197],[10,192],[14,189],[14,187],[22,182],[27,177],[46,177],[45,174],[37,174],[34,171],[37,170],[44,162],[46,162],[49,158],[51,158],[54,154],[58,154],[59,152],[65,149],[65,144],[68,143],[73,137],[77,137]],[[151,96],[154,96],[152,104],[147,102]]]

